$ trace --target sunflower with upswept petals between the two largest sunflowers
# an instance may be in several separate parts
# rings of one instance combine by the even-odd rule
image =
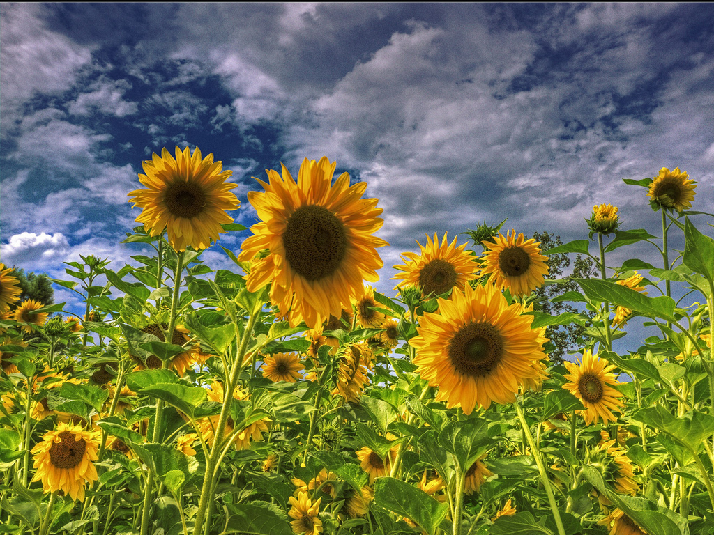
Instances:
[[[422,297],[442,295],[453,287],[463,290],[466,282],[478,278],[476,258],[471,251],[466,250],[466,243],[456,247],[456,238],[448,243],[447,234],[444,233],[441,245],[436,233],[433,241],[426,236],[426,247],[417,242],[421,255],[402,253],[404,264],[394,266],[396,270],[401,271],[392,277],[401,279],[395,290],[416,285],[421,288]]]

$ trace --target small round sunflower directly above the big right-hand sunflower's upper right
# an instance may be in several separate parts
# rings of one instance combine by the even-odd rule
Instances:
[[[481,275],[491,274],[499,289],[508,288],[512,295],[528,295],[543,285],[548,275],[547,256],[540,254],[540,242],[526,240],[523,233],[516,238],[516,230],[501,233],[493,242],[484,241],[489,250],[483,256]]]

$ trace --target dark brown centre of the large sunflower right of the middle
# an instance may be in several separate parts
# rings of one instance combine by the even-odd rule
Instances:
[[[503,337],[490,323],[470,323],[453,336],[448,355],[458,372],[483,377],[501,362]]]

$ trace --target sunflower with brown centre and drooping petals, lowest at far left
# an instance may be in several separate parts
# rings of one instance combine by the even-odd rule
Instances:
[[[84,501],[84,485],[96,481],[94,463],[101,434],[79,426],[60,423],[32,448],[32,481],[42,481],[45,492],[63,491],[73,501]]]

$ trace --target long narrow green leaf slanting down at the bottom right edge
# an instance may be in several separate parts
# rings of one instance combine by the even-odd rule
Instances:
[[[688,521],[683,516],[648,499],[617,494],[593,467],[583,466],[583,476],[636,524],[644,526],[649,535],[689,535]]]

